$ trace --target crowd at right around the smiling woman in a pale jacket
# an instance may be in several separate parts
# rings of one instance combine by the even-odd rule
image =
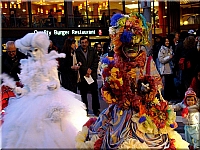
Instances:
[[[170,102],[179,102],[191,86],[200,65],[199,29],[156,37],[152,56],[163,79],[163,95]]]

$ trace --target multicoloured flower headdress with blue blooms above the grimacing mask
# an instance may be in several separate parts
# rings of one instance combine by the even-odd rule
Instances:
[[[111,26],[109,34],[115,45],[114,51],[116,53],[119,53],[120,47],[127,43],[149,44],[148,33],[151,25],[146,22],[142,14],[122,15],[117,13],[111,18]]]

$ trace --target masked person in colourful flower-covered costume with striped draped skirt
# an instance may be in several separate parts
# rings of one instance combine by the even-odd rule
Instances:
[[[109,107],[91,118],[76,148],[176,149],[188,143],[174,131],[176,114],[162,98],[162,82],[147,59],[150,24],[138,13],[115,14],[109,29],[114,60],[103,60],[102,96]]]

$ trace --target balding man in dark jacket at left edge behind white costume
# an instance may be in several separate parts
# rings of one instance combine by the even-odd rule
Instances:
[[[8,74],[13,77],[15,81],[19,81],[17,74],[20,73],[20,60],[27,58],[15,47],[14,41],[8,41],[6,43],[6,54],[2,56],[2,73]]]

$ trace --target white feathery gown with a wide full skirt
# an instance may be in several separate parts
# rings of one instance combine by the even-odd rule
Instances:
[[[75,136],[87,122],[80,96],[60,87],[57,61],[21,61],[26,94],[10,100],[2,125],[3,148],[75,148]],[[50,91],[47,86],[57,86]]]

